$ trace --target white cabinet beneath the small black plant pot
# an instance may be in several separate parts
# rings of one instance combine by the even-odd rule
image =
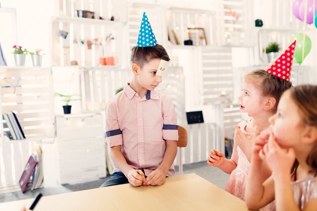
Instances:
[[[64,114],[55,117],[55,145],[60,184],[106,176],[103,115]]]

